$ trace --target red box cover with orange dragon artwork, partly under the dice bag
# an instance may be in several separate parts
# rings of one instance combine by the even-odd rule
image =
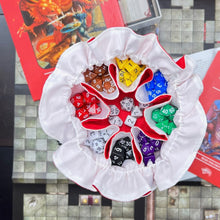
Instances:
[[[0,0],[33,100],[71,45],[124,26],[117,0]]]

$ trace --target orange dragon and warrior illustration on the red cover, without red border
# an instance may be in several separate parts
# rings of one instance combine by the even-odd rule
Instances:
[[[29,34],[42,68],[55,67],[60,55],[72,44],[94,36],[97,24],[106,28],[100,5],[106,0],[21,0],[24,19],[17,34]],[[102,19],[94,23],[94,10]],[[100,16],[98,16],[100,18]],[[93,27],[94,26],[94,27]],[[97,33],[98,34],[98,33]]]

